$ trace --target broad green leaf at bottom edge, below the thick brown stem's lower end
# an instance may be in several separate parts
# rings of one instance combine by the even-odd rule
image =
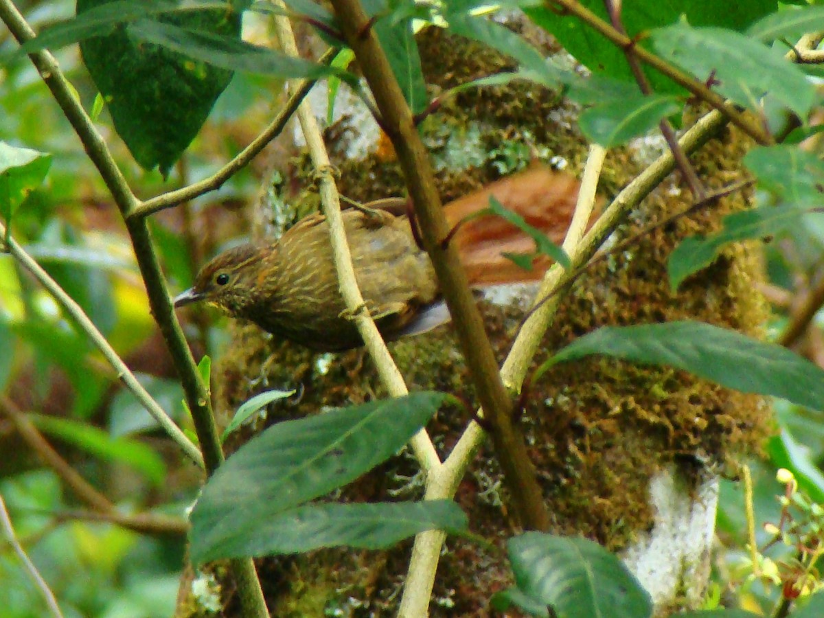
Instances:
[[[557,616],[652,616],[648,593],[616,555],[593,541],[527,532],[507,548],[517,588]]]

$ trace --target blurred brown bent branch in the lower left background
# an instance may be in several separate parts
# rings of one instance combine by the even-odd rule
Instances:
[[[77,471],[60,456],[59,452],[49,444],[40,430],[35,427],[26,414],[17,408],[7,396],[0,395],[0,413],[5,414],[14,424],[17,433],[36,452],[46,466],[49,466],[56,475],[68,485],[69,489],[93,508],[96,513],[107,521],[128,528],[136,532],[147,534],[178,534],[184,535],[189,530],[189,522],[180,517],[166,517],[165,515],[138,514],[125,515],[119,513],[115,505],[105,495],[92,487],[86,479],[77,474]]]

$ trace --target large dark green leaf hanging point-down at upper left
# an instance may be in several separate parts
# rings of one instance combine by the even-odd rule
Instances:
[[[77,14],[106,3],[77,0]],[[177,52],[192,52],[196,45],[191,39],[214,40],[225,35],[238,40],[241,19],[226,5],[165,14],[158,19],[162,21],[139,19],[125,28],[116,28],[110,35],[84,40],[80,49],[83,62],[105,97],[115,129],[135,161],[147,170],[159,166],[165,177],[232,79],[232,72],[225,68],[214,67],[203,59],[195,62],[190,55]],[[178,26],[198,32],[187,38],[189,30]],[[160,46],[158,40],[168,45]]]

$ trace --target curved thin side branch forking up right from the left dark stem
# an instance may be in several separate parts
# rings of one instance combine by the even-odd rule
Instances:
[[[319,59],[318,62],[321,64],[330,63],[331,60],[335,58],[335,54],[337,54],[337,52],[338,49],[328,49],[325,54],[321,56],[321,59]],[[292,119],[295,110],[297,110],[297,105],[300,105],[301,101],[306,98],[307,94],[309,94],[309,91],[311,91],[311,88],[316,83],[317,80],[306,79],[300,82],[296,87],[293,87],[291,89],[292,94],[289,96],[288,101],[286,101],[286,104],[283,105],[283,109],[278,112],[278,115],[274,118],[274,120],[272,120],[271,124],[269,124],[269,126],[266,127],[260,135],[252,140],[248,146],[241,150],[241,152],[239,152],[237,156],[232,159],[232,161],[228,162],[225,166],[222,166],[222,168],[215,172],[212,176],[209,176],[204,180],[200,180],[193,185],[185,186],[182,189],[169,191],[168,193],[145,200],[143,204],[133,209],[132,213],[129,214],[129,218],[147,217],[148,215],[157,213],[165,208],[172,208],[179,204],[183,204],[184,202],[197,198],[208,193],[209,191],[220,189],[223,183],[232,178],[232,176],[234,176],[243,167],[247,166],[249,162],[257,157],[274,138],[277,138],[280,133],[283,132],[286,124],[290,119]]]

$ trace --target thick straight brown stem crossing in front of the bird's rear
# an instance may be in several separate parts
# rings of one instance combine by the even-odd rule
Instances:
[[[392,73],[374,30],[365,26],[369,17],[358,0],[332,0],[339,26],[358,59],[363,76],[372,90],[381,113],[384,130],[391,139],[404,172],[416,218],[424,236],[424,246],[432,259],[438,283],[470,370],[475,391],[492,428],[495,455],[503,470],[513,512],[522,526],[546,530],[550,516],[544,503],[536,471],[527,447],[511,416],[512,400],[499,376],[484,322],[475,304],[454,244],[442,246],[449,227],[435,186],[428,152],[403,93]]]

